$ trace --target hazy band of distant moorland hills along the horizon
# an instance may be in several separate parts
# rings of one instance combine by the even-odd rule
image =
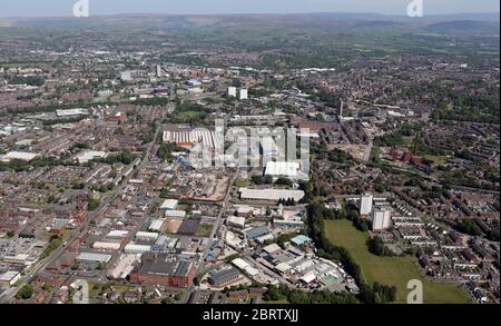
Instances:
[[[375,13],[303,13],[303,14],[120,14],[90,18],[0,18],[0,27],[49,29],[149,29],[186,30],[206,28],[313,28],[338,31],[365,29],[415,29],[420,31],[451,33],[498,33],[499,16],[494,13],[468,13],[452,16],[425,16],[415,19],[406,16]]]

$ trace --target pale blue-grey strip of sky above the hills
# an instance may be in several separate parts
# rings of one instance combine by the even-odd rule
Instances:
[[[0,17],[71,16],[80,0],[0,0]],[[90,14],[375,12],[406,14],[420,0],[88,0]],[[499,12],[499,0],[421,0],[425,14]]]

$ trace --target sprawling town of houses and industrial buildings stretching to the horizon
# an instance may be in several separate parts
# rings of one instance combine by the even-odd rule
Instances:
[[[499,303],[499,20],[0,22],[1,302]]]

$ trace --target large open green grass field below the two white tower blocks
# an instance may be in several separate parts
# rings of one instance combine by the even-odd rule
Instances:
[[[405,303],[410,279],[421,279],[425,303],[460,304],[470,303],[466,293],[458,285],[428,280],[421,273],[415,259],[411,257],[380,257],[371,254],[366,247],[367,233],[361,233],[348,220],[325,220],[327,238],[336,246],[346,248],[362,269],[367,284],[379,281],[396,287],[396,302]]]

